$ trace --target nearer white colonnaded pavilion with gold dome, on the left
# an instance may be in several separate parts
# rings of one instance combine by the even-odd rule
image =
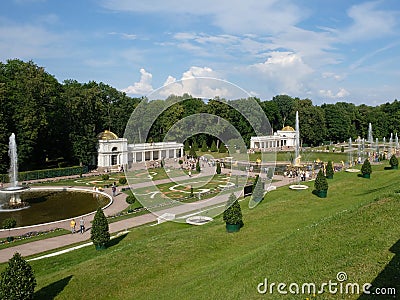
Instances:
[[[183,144],[177,142],[128,144],[126,138],[105,130],[97,135],[97,166],[99,168],[130,167],[133,163],[156,161],[183,156]]]

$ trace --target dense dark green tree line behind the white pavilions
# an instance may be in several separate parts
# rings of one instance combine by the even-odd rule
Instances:
[[[303,145],[316,146],[326,141],[341,142],[349,137],[367,137],[368,124],[374,138],[380,140],[397,133],[400,128],[400,103],[394,100],[379,106],[355,105],[346,102],[313,105],[311,99],[277,95],[270,100],[254,98],[268,117],[269,123],[258,124],[257,112],[250,120],[240,111],[251,109],[248,99],[204,99],[190,95],[171,95],[166,100],[148,101],[132,98],[117,89],[90,81],[62,83],[32,61],[18,59],[0,62],[0,173],[9,166],[8,138],[15,133],[21,170],[53,166],[95,165],[97,134],[109,129],[123,136],[129,118],[142,101],[148,108],[165,109],[152,123],[143,141],[162,141],[168,130],[183,118],[208,113],[232,124],[249,145],[255,131],[276,131],[294,127],[299,111]],[[180,101],[183,100],[183,101]],[[130,120],[138,122],[140,120]],[[253,128],[251,124],[258,124]],[[259,128],[257,128],[257,126]],[[188,139],[198,145],[219,143],[216,138],[229,130],[225,123],[214,126],[214,134],[197,134]],[[140,126],[139,126],[140,128]]]

